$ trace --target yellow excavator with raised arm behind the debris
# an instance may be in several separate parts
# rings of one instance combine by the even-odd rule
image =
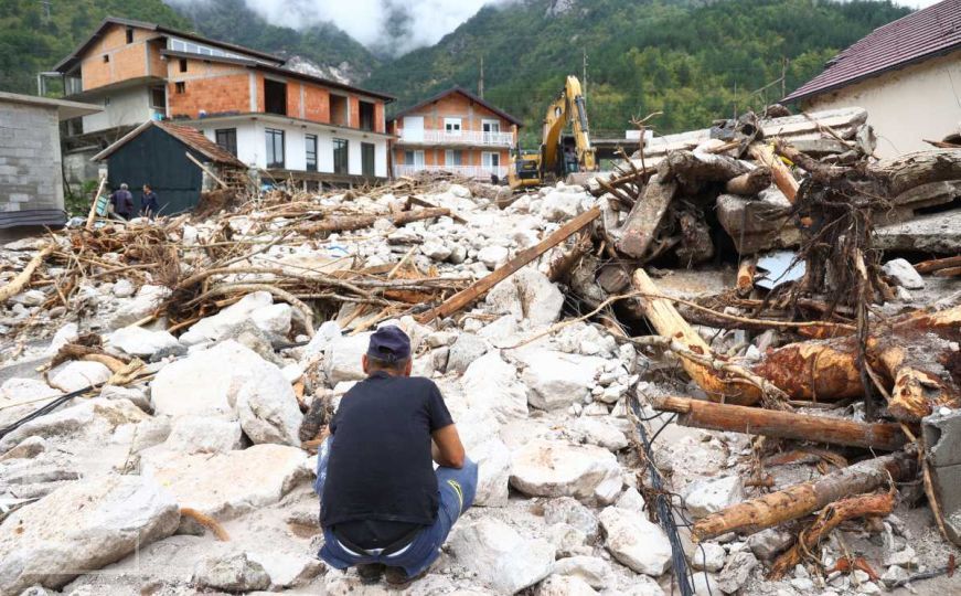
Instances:
[[[570,123],[574,135],[564,135]],[[538,187],[575,172],[597,171],[580,81],[568,76],[564,91],[547,108],[540,151],[517,147],[508,172],[512,190]]]

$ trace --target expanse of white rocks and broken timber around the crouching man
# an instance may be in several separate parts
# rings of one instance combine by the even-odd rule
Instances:
[[[862,172],[869,147],[846,136],[869,135],[842,124],[822,125],[845,149],[819,163]],[[7,244],[0,593],[384,593],[314,558],[312,492],[321,428],[384,323],[410,336],[480,470],[477,507],[405,593],[951,582],[961,294],[932,274],[954,262],[882,262],[858,240],[891,294],[834,305],[804,284],[768,300],[761,258],[747,281],[734,263],[645,270],[712,260],[705,205],[764,171],[655,157],[594,192],[402,179]],[[714,162],[738,173],[694,173]],[[813,174],[788,175],[803,198]],[[750,196],[782,192],[760,179]]]

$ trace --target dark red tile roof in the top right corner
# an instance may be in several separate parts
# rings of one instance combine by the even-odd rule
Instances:
[[[783,100],[820,95],[954,49],[961,49],[961,0],[944,0],[875,29]]]

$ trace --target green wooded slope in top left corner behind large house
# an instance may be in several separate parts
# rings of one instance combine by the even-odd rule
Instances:
[[[0,0],[0,91],[36,93],[49,71],[107,15],[190,29],[161,0]]]

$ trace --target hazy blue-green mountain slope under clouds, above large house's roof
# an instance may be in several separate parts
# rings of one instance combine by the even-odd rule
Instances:
[[[285,57],[306,58],[318,67],[313,74],[355,83],[381,64],[366,47],[333,24],[299,31],[276,26],[247,8],[244,0],[170,3],[203,35]]]

